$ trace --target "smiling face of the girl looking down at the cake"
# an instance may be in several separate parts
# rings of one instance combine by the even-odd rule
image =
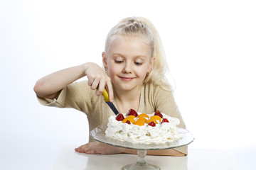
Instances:
[[[114,89],[122,91],[140,88],[154,62],[142,38],[127,36],[114,40],[107,56],[103,52],[102,57]]]

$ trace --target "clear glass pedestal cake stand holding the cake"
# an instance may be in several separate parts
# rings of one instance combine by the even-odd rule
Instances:
[[[128,149],[137,149],[138,160],[136,164],[130,164],[122,167],[122,170],[154,170],[160,169],[158,166],[147,164],[145,161],[146,150],[159,150],[159,149],[171,149],[175,147],[182,147],[193,142],[194,137],[188,130],[178,128],[178,132],[181,134],[181,139],[174,142],[165,142],[164,144],[134,144],[132,142],[115,140],[111,137],[107,137],[105,130],[107,125],[100,125],[90,132],[90,135],[97,141],[112,145],[114,147],[124,147]]]

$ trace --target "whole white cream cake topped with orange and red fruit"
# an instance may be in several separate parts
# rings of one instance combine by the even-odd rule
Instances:
[[[174,142],[178,133],[178,118],[156,111],[155,113],[137,113],[130,109],[127,114],[111,115],[105,131],[107,137],[133,143]]]

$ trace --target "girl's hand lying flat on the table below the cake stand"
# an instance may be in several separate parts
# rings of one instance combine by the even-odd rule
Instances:
[[[75,148],[76,152],[85,154],[121,154],[119,147],[103,144],[102,142],[90,142]]]

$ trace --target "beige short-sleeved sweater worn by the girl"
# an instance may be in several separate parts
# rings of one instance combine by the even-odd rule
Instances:
[[[114,115],[110,107],[105,103],[103,96],[96,96],[95,91],[92,91],[90,86],[87,85],[87,81],[79,81],[66,86],[57,99],[38,98],[38,101],[44,106],[75,108],[78,111],[82,111],[87,115],[90,131],[98,125],[107,125],[110,115]],[[113,103],[117,106],[117,103]],[[137,112],[151,114],[156,110],[178,118],[181,122],[178,127],[186,128],[171,91],[164,91],[159,86],[152,84],[143,85],[139,111]],[[90,137],[89,141],[92,142],[94,140]],[[186,146],[176,148],[176,150],[187,154]]]

